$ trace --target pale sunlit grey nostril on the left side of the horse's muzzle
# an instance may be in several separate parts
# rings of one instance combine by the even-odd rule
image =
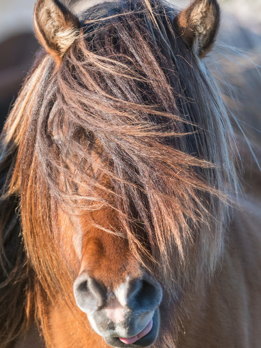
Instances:
[[[107,303],[105,287],[86,274],[81,274],[75,280],[73,294],[77,306],[85,313],[104,307]]]

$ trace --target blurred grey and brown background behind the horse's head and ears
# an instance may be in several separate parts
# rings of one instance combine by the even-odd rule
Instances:
[[[68,2],[68,1],[67,1]],[[70,1],[80,11],[93,0]],[[184,8],[190,1],[171,0]],[[222,25],[209,66],[227,104],[253,142],[261,139],[261,0],[220,0]],[[32,30],[34,0],[0,0],[0,129],[39,44]],[[220,75],[220,72],[222,74]],[[222,77],[221,77],[222,76]],[[233,87],[231,87],[231,85]]]

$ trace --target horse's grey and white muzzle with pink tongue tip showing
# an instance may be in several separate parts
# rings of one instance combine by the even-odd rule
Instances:
[[[108,345],[139,348],[155,342],[162,288],[154,277],[127,277],[111,291],[82,272],[73,284],[73,292],[77,306]]]

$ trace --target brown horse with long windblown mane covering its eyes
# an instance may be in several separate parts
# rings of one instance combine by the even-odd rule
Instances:
[[[37,1],[0,139],[2,348],[259,347],[261,151],[205,64],[219,24],[216,0]]]

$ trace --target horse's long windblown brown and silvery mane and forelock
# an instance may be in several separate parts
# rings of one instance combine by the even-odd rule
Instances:
[[[57,206],[111,209],[121,229],[98,227],[149,257],[174,299],[215,270],[237,189],[235,143],[177,13],[159,0],[96,5],[58,68],[38,54],[1,135],[2,348],[33,313],[48,346],[46,303],[71,291]]]

